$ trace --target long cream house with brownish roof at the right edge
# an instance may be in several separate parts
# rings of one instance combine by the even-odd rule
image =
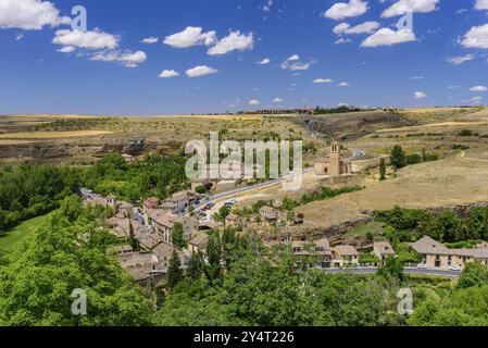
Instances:
[[[449,249],[443,244],[425,236],[412,245],[412,249],[422,256],[422,264],[433,269],[463,269],[466,263],[479,261],[488,265],[488,248],[479,245],[474,249]]]

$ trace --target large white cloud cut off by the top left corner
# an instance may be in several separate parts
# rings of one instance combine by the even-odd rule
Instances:
[[[60,11],[50,1],[0,0],[0,28],[40,30],[70,22],[70,17],[60,17]]]

